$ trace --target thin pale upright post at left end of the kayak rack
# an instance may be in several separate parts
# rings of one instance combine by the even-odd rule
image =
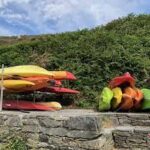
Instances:
[[[3,74],[4,74],[4,64],[2,64],[2,72],[1,72],[1,75],[0,75],[1,76],[0,111],[2,111],[2,108],[3,108],[3,90],[4,90],[4,87],[3,87]]]

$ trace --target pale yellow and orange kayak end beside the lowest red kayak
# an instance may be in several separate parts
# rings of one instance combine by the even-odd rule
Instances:
[[[58,103],[58,102],[39,102],[38,104],[42,104],[44,106],[47,106],[47,107],[50,107],[50,108],[54,108],[54,109],[57,109],[57,110],[62,109],[61,104]]]

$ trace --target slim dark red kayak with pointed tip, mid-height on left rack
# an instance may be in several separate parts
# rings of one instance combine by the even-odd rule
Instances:
[[[62,87],[47,87],[40,89],[41,92],[50,92],[50,93],[67,93],[67,94],[79,94],[77,90],[62,88]]]

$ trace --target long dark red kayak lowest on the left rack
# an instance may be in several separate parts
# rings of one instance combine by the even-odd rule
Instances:
[[[9,110],[44,110],[44,111],[54,111],[54,108],[36,104],[29,101],[22,101],[22,100],[4,100],[3,101],[3,109]]]

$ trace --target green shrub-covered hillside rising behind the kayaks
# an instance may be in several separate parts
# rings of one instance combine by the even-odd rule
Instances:
[[[0,64],[37,64],[73,72],[71,88],[78,106],[94,107],[108,81],[126,71],[148,86],[150,76],[150,15],[129,15],[106,26],[55,35],[0,37]],[[150,85],[149,85],[150,86]]]

